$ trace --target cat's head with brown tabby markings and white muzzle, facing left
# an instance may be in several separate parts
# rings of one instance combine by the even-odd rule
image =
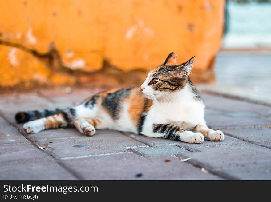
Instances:
[[[140,86],[147,98],[168,97],[184,88],[191,72],[194,57],[181,65],[177,65],[177,55],[170,53],[162,65],[154,68]]]

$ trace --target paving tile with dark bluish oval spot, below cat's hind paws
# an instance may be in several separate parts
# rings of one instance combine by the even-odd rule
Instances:
[[[111,130],[97,130],[92,137],[83,136],[50,142],[50,140],[44,140],[39,141],[38,144],[48,144],[45,150],[51,151],[56,158],[127,152],[127,148],[146,146],[122,133]]]

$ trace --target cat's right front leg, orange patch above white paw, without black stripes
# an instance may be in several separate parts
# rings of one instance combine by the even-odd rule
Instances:
[[[209,129],[206,124],[198,124],[195,128],[195,132],[202,133],[206,140],[210,141],[224,140],[224,134],[222,131]]]

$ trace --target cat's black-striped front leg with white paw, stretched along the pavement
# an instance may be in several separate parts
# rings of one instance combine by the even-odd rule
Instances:
[[[194,133],[173,124],[153,124],[152,132],[154,133],[152,137],[175,141],[188,143],[201,143],[204,141],[204,136],[201,133]]]

